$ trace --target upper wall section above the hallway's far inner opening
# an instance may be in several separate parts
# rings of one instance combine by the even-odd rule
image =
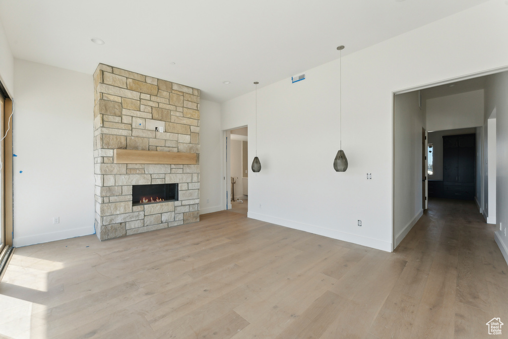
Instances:
[[[441,96],[427,101],[429,131],[483,125],[483,89]]]

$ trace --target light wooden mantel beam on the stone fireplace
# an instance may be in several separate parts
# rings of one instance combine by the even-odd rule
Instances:
[[[115,149],[114,163],[156,163],[171,165],[195,165],[198,163],[196,153],[158,152]]]

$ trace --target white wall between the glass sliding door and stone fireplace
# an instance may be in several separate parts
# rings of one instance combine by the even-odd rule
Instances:
[[[91,234],[92,77],[18,59],[14,76],[14,246]]]

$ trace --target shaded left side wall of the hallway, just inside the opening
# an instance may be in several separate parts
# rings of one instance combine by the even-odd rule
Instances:
[[[425,110],[419,92],[395,95],[394,110],[395,247],[423,214],[422,138]]]

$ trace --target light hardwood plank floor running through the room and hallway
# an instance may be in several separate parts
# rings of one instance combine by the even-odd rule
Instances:
[[[482,338],[508,267],[472,202],[434,200],[386,253],[246,218],[16,249],[14,338]]]

